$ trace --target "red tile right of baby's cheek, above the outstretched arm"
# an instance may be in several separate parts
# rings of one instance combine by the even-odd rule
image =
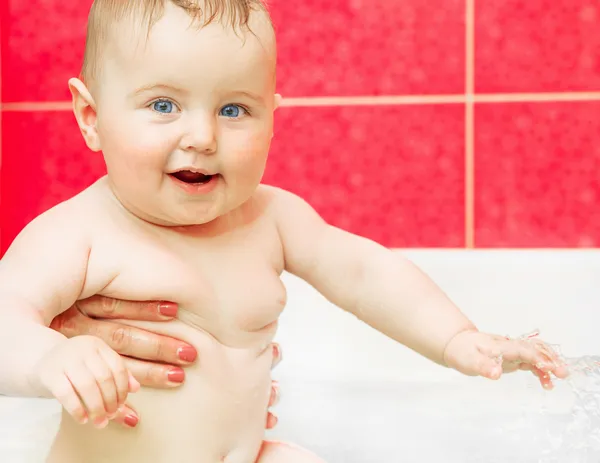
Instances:
[[[284,108],[265,182],[392,247],[464,245],[464,109]]]

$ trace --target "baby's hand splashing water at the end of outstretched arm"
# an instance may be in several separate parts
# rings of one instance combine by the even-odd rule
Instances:
[[[545,389],[552,389],[550,373],[568,375],[558,355],[538,339],[507,339],[477,331],[457,334],[446,346],[444,361],[450,368],[470,376],[498,379],[502,373],[529,370]]]

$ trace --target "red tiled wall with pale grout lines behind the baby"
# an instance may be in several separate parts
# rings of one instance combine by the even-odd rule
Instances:
[[[0,252],[104,173],[66,86],[90,4],[0,2]],[[287,100],[267,183],[388,246],[600,245],[597,2],[270,4]]]

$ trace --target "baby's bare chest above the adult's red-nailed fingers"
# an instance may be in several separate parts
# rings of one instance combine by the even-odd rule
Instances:
[[[285,306],[283,259],[276,243],[208,239],[174,244],[138,237],[104,253],[104,265],[112,266],[115,276],[103,295],[176,302],[182,321],[210,332],[260,331]]]

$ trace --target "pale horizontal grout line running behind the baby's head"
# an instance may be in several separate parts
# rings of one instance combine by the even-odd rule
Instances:
[[[469,0],[471,1],[471,0]],[[465,93],[450,95],[331,96],[284,98],[288,108],[321,106],[402,106],[435,104],[552,103],[568,101],[600,101],[600,92],[548,93]],[[0,103],[5,112],[71,111],[70,101],[20,101]]]

